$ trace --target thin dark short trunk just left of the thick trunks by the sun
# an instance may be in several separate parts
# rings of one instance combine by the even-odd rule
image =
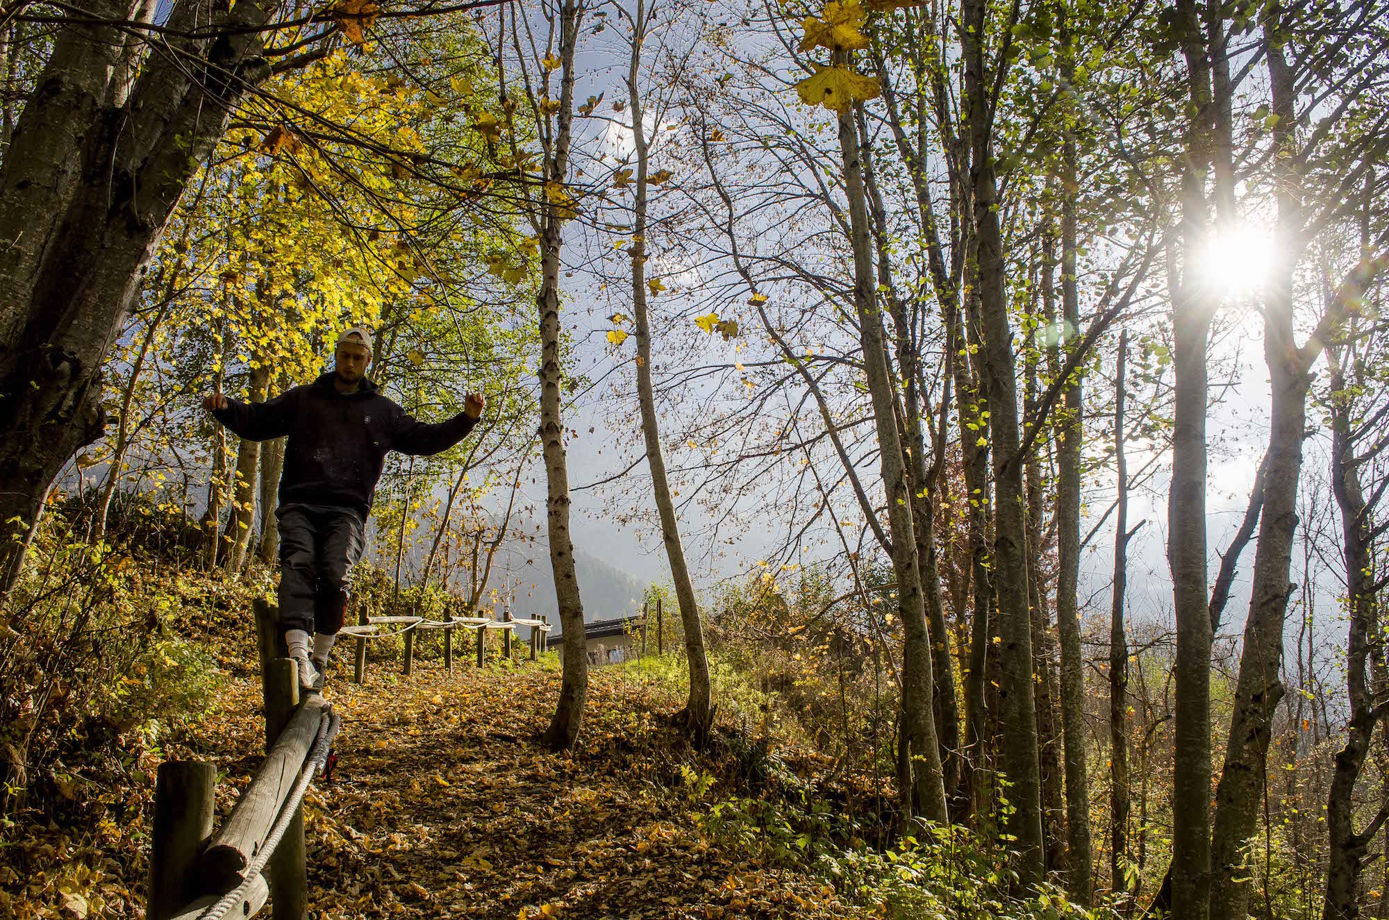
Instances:
[[[1114,367],[1114,593],[1110,602],[1110,889],[1128,894],[1128,636],[1124,635],[1124,591],[1128,586],[1128,461],[1124,456],[1124,363],[1128,329],[1120,332]]]

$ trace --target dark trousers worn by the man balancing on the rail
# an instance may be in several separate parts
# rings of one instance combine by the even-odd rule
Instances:
[[[361,559],[361,513],[283,504],[279,518],[279,627],[333,635],[343,628],[351,567]]]

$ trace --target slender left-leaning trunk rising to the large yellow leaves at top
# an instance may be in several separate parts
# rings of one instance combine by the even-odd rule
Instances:
[[[945,785],[940,749],[932,716],[931,641],[926,631],[925,598],[917,564],[915,528],[913,524],[911,486],[903,464],[901,434],[893,411],[892,377],[882,313],[876,304],[872,243],[868,206],[864,192],[858,132],[850,111],[839,115],[839,153],[854,254],[854,306],[858,313],[858,338],[863,345],[864,375],[874,409],[874,422],[881,445],[882,484],[888,498],[888,524],[892,539],[892,564],[897,577],[897,602],[906,634],[903,646],[901,705],[903,727],[911,750],[911,774],[915,807],[931,821],[946,824]]]

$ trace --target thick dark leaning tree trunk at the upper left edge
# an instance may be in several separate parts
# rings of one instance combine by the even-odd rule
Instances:
[[[0,595],[24,564],[43,496],[101,435],[101,361],[125,322],[189,176],[236,100],[269,74],[258,0],[214,10],[182,0],[169,51],[146,61],[121,113],[106,108],[122,49],[114,26],[57,31],[0,175]],[[93,0],[94,22],[126,10]],[[226,26],[219,33],[214,26]],[[183,38],[196,31],[200,38]],[[215,76],[210,76],[215,74]],[[228,75],[233,75],[228,78]]]

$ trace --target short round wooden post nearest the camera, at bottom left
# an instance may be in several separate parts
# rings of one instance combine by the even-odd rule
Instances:
[[[144,916],[168,920],[201,894],[193,863],[213,838],[217,767],[201,760],[165,760],[154,780],[150,894]]]

